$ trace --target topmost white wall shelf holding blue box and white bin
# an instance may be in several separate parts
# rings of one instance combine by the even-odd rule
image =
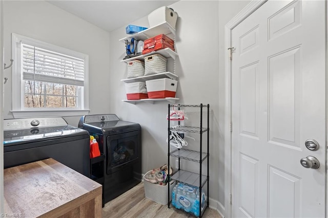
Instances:
[[[125,38],[119,39],[121,42],[125,42],[125,39],[131,40],[131,38],[135,38],[137,40],[145,40],[148,38],[151,38],[153,36],[156,36],[158,34],[169,34],[173,33],[175,35],[175,29],[167,22],[164,22],[162,24],[159,24],[157,26],[148,28],[147,30],[140,31],[138,33],[132,34],[130,36],[127,36]]]

